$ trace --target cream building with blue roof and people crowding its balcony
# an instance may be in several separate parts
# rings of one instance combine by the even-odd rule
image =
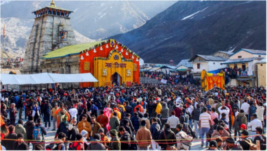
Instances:
[[[249,86],[257,85],[257,65],[256,63],[266,57],[266,51],[253,49],[240,49],[236,53],[231,54],[229,60],[223,62],[223,65],[229,65],[232,69],[241,69],[241,75],[231,80],[233,85],[246,82]]]

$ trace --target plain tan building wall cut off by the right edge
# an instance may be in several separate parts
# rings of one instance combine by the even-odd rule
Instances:
[[[266,88],[266,58],[257,62],[257,86]]]

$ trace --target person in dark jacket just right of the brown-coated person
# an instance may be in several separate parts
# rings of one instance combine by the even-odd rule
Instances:
[[[158,137],[157,132],[160,130],[160,124],[157,124],[156,117],[153,117],[152,119],[152,125],[150,127],[150,132],[152,136],[152,149],[155,150],[157,146],[157,150],[160,150],[159,144],[155,141],[155,139]]]

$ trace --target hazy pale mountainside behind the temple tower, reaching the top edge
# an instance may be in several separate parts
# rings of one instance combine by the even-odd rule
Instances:
[[[5,24],[4,56],[24,56],[34,23],[34,10],[51,1],[1,1],[1,36]],[[136,29],[175,1],[55,1],[60,8],[73,10],[71,23],[79,43]],[[87,38],[89,37],[89,38]]]

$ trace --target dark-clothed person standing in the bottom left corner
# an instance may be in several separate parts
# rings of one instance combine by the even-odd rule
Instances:
[[[2,140],[1,144],[2,146],[5,146],[6,150],[13,150],[13,144],[15,141],[12,141],[12,139],[16,140],[16,133],[15,127],[13,125],[8,126],[9,133],[8,135],[5,135],[4,139]]]

